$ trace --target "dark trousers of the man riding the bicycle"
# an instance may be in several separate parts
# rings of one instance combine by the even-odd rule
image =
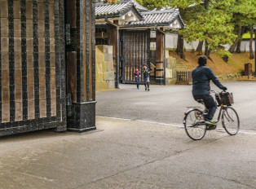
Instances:
[[[214,113],[217,109],[217,104],[214,101],[214,98],[210,94],[195,94],[193,95],[194,99],[203,99],[205,106],[208,109],[208,115],[205,116],[206,119],[212,120],[214,118]]]

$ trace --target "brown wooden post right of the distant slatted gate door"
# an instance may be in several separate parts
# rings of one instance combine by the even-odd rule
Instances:
[[[157,85],[164,84],[164,34],[157,30],[156,51],[156,82]]]

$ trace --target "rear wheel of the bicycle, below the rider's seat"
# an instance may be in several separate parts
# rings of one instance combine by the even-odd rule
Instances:
[[[189,138],[201,140],[206,133],[205,118],[198,109],[192,109],[184,117],[184,127]]]

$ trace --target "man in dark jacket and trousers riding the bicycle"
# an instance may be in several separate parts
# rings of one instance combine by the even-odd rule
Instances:
[[[223,86],[220,81],[218,81],[218,78],[211,68],[205,66],[205,64],[207,64],[207,57],[205,55],[199,57],[198,64],[199,66],[192,71],[192,94],[195,100],[203,99],[205,106],[209,111],[205,116],[205,124],[216,125],[213,118],[217,109],[217,104],[215,103],[214,98],[210,95],[210,80],[221,90],[227,90],[227,87]]]

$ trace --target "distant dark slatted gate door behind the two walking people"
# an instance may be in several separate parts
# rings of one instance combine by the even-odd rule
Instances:
[[[150,30],[123,31],[121,51],[121,81],[135,83],[135,69],[141,72],[143,64],[150,66]]]

